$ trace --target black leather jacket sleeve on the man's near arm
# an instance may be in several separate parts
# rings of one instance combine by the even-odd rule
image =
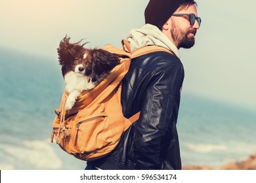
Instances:
[[[134,124],[134,159],[138,169],[163,169],[161,141],[168,128],[175,127],[176,131],[177,117],[175,119],[173,113],[179,110],[177,103],[180,102],[183,78],[182,63],[171,63],[152,73],[144,89],[140,118]]]

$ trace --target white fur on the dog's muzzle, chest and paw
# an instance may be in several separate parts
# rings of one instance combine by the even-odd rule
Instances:
[[[87,54],[83,57],[86,58],[86,56]],[[69,110],[74,106],[75,100],[83,90],[91,90],[96,86],[96,84],[91,81],[91,78],[85,76],[85,69],[83,71],[79,71],[79,67],[83,67],[83,65],[76,65],[75,71],[70,71],[64,76],[66,84],[65,90],[69,93],[64,110]]]

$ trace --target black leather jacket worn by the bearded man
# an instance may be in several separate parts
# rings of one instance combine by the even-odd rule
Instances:
[[[100,169],[181,169],[177,116],[184,69],[179,58],[154,52],[131,61],[123,79],[126,118],[140,118],[108,156],[90,162]]]

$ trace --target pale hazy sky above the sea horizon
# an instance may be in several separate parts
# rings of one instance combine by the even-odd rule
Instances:
[[[182,92],[256,110],[256,18],[253,0],[198,0],[202,25],[196,44],[180,49]],[[148,0],[0,0],[0,49],[11,48],[57,64],[68,35],[89,46],[114,44],[144,25]]]

